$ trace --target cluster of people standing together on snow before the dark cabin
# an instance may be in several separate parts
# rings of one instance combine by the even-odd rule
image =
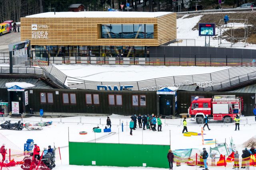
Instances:
[[[131,121],[130,121],[130,135],[132,135],[132,130],[136,130],[137,121],[138,121],[139,128],[142,128],[142,124],[143,124],[143,130],[146,130],[145,128],[147,128],[152,131],[156,131],[156,123],[157,123],[158,125],[157,130],[162,131],[162,121],[160,117],[161,116],[158,116],[156,119],[156,116],[154,114],[152,115],[148,114],[143,116],[139,114],[137,117],[136,114],[132,114]]]

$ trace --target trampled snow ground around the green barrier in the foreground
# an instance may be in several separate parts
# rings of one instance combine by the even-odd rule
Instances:
[[[113,118],[112,118],[113,117]],[[111,119],[119,117],[117,115],[110,116]],[[93,117],[94,119],[99,119],[99,117]],[[120,118],[124,118],[123,116]],[[70,119],[70,118],[65,118]],[[53,120],[53,119],[52,119]],[[164,119],[162,119],[164,122]],[[192,132],[201,132],[201,127],[199,125],[192,125],[188,120],[188,131]],[[126,125],[126,123],[124,123]],[[105,125],[100,125],[101,128],[104,128]],[[219,143],[224,143],[226,139],[226,143],[229,145],[231,137],[234,140],[234,144],[238,152],[241,155],[242,143],[250,139],[255,134],[253,133],[253,129],[256,128],[256,124],[253,125],[241,125],[240,131],[234,131],[234,124],[230,126],[211,126],[211,131],[204,131],[206,135],[204,135],[204,139],[216,139]],[[0,130],[0,133],[4,135],[8,140],[12,143],[8,143],[8,140],[3,138],[0,139],[0,143],[6,143],[6,148],[10,145],[16,145],[20,148],[20,151],[23,149],[23,145],[27,139],[34,139],[34,142],[40,146],[40,148],[47,147],[48,145],[53,145],[55,143],[56,147],[60,147],[62,161],[60,161],[59,154],[57,154],[57,166],[54,168],[55,170],[82,170],[82,169],[90,169],[90,170],[112,170],[112,169],[126,169],[126,170],[151,170],[151,169],[161,169],[161,168],[142,168],[142,167],[129,167],[129,168],[120,168],[120,167],[108,167],[108,166],[71,166],[69,164],[68,158],[68,127],[69,127],[69,137],[70,141],[80,141],[87,142],[92,141],[95,142],[94,139],[96,137],[96,143],[136,143],[142,144],[142,133],[143,133],[143,144],[163,144],[171,146],[171,149],[199,149],[202,150],[203,147],[206,147],[206,150],[209,152],[210,147],[215,147],[215,145],[202,145],[202,137],[201,136],[192,136],[185,137],[182,134],[183,127],[177,127],[174,125],[163,125],[162,132],[158,131],[149,131],[138,128],[136,131],[133,131],[133,136],[129,134],[129,128],[124,127],[124,132],[121,131],[121,127],[112,125],[112,132],[116,132],[116,134],[111,135],[109,137],[103,139],[97,139],[98,137],[102,137],[106,135],[106,133],[96,133],[92,132],[92,128],[96,127],[96,125],[92,124],[84,124],[77,125],[76,123],[65,123],[58,124],[53,123],[49,127],[44,127],[42,131],[27,131],[26,129],[22,131],[11,131],[11,130]],[[87,131],[88,135],[79,135],[80,131]],[[169,135],[171,134],[171,135]],[[95,136],[96,135],[96,136]],[[18,140],[17,140],[18,139]],[[119,140],[118,140],[119,139]],[[157,153],[157,151],[156,151]],[[166,150],[167,154],[167,150]],[[168,164],[166,160],[166,165]],[[210,160],[208,162],[210,164]],[[232,163],[228,163],[228,169],[232,167]],[[252,167],[251,167],[252,168]],[[17,169],[17,167],[10,168],[10,170]],[[180,167],[174,166],[174,169],[179,170],[194,170],[196,169],[194,166],[187,166],[182,164]],[[210,169],[213,170],[223,170],[224,167],[212,167]]]

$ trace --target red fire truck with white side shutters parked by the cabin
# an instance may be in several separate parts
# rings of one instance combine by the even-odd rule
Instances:
[[[195,98],[188,108],[188,114],[203,123],[205,115],[213,120],[232,123],[236,114],[241,114],[241,98],[234,95],[214,96],[213,98]],[[198,119],[198,117],[202,119]]]

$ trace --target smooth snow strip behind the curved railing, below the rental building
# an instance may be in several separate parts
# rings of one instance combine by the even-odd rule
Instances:
[[[129,66],[94,64],[55,64],[54,66],[70,77],[107,82],[140,81],[168,76],[204,74],[230,68],[227,66]]]

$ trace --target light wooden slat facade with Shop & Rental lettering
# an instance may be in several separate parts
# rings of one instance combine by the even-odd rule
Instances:
[[[100,24],[110,23],[154,24],[154,39],[100,38]],[[32,39],[31,24],[47,25],[37,31],[47,31],[48,39]],[[21,40],[26,39],[32,45],[159,46],[176,39],[176,13],[158,18],[21,18]]]

